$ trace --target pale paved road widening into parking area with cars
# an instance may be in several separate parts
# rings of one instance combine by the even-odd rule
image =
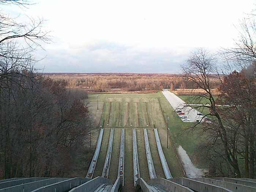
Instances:
[[[169,101],[169,103],[172,105],[174,110],[177,110],[180,108],[180,110],[185,113],[185,116],[189,119],[189,121],[186,122],[196,122],[196,120],[201,120],[203,116],[198,115],[198,111],[196,109],[192,109],[191,107],[187,107],[187,103],[185,103],[181,98],[179,98],[174,93],[171,93],[168,90],[162,91],[163,95]]]

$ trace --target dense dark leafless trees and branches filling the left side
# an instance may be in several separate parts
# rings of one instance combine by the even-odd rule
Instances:
[[[8,4],[29,1],[0,0]],[[86,167],[87,93],[36,73],[33,52],[50,41],[44,20],[17,20],[1,10],[0,178],[71,176]]]

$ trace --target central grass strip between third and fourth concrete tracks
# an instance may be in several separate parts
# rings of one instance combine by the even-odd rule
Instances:
[[[124,191],[127,191],[127,192],[134,191],[133,157],[132,157],[132,129],[125,129]]]

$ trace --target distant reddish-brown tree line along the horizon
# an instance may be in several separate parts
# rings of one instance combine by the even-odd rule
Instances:
[[[174,74],[46,74],[52,79],[65,79],[69,87],[86,87],[104,92],[105,89],[140,91],[169,89],[196,89],[197,85],[181,75]],[[220,85],[218,76],[210,79],[212,87]]]

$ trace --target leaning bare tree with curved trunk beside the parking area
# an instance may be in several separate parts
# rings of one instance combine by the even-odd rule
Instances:
[[[237,132],[230,130],[229,126],[226,126],[219,114],[217,104],[214,96],[212,95],[210,79],[215,73],[215,57],[207,52],[206,49],[199,48],[195,52],[192,52],[189,56],[187,64],[182,66],[184,78],[192,82],[196,88],[204,90],[204,94],[196,95],[195,100],[202,104],[200,106],[192,107],[200,110],[200,108],[208,108],[209,113],[205,114],[201,121],[205,117],[211,117],[210,124],[204,124],[202,131],[207,134],[208,145],[214,145],[217,141],[221,143],[224,152],[224,157],[227,162],[233,167],[234,174],[238,177],[241,176],[238,166],[237,151],[236,151],[236,139]],[[216,75],[215,75],[216,76]],[[200,103],[202,99],[206,99],[207,103]],[[199,123],[196,123],[196,127]]]

